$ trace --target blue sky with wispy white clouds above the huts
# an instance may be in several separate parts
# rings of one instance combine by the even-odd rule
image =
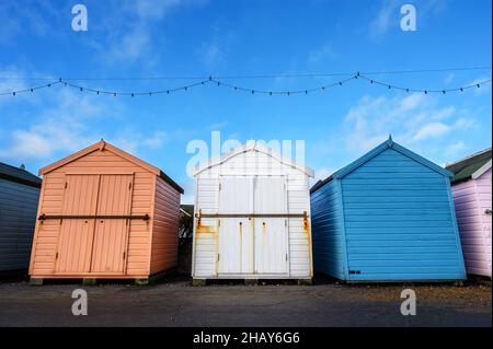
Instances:
[[[231,77],[491,67],[490,0],[107,0],[80,1],[89,31],[73,32],[79,1],[0,1],[0,92],[24,78]],[[412,3],[417,31],[400,30]],[[375,74],[423,89],[491,78],[491,69]],[[341,77],[230,79],[264,90],[330,84]],[[162,90],[195,80],[79,80],[118,91]],[[161,167],[193,197],[185,166],[193,139],[305,140],[306,163],[324,177],[392,133],[445,164],[491,147],[491,85],[446,95],[363,81],[298,96],[197,88],[152,97],[96,96],[53,86],[0,97],[0,161],[44,165],[101,138]]]

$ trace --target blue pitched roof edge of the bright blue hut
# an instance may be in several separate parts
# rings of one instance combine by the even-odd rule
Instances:
[[[375,156],[377,156],[378,154],[380,154],[381,152],[383,152],[383,151],[386,151],[387,149],[390,149],[390,148],[395,150],[395,151],[398,151],[398,152],[400,152],[404,156],[408,156],[408,158],[410,158],[410,159],[421,163],[422,165],[424,165],[424,166],[426,166],[426,167],[428,167],[428,168],[439,173],[443,176],[446,176],[446,177],[451,177],[452,176],[451,172],[449,172],[449,171],[438,166],[437,164],[431,162],[429,160],[424,159],[423,156],[417,155],[416,153],[412,152],[411,150],[409,150],[409,149],[406,149],[406,148],[395,143],[392,140],[392,137],[390,136],[388,140],[386,140],[383,143],[381,143],[377,148],[370,150],[369,152],[367,152],[362,158],[359,158],[356,161],[352,162],[347,166],[345,166],[345,167],[334,172],[328,178],[317,182],[311,187],[310,194],[317,191],[318,189],[320,189],[321,187],[323,187],[325,184],[330,183],[334,178],[345,177],[346,175],[348,175],[349,173],[352,173],[353,171],[355,171],[359,166],[364,165],[365,163],[367,163],[368,161],[370,161],[371,159],[374,159]]]

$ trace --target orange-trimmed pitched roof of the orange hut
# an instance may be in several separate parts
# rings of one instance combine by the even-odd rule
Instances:
[[[183,194],[183,188],[180,187],[173,179],[171,179],[164,172],[162,172],[161,170],[159,170],[158,167],[145,162],[144,160],[140,160],[125,151],[123,151],[122,149],[116,148],[113,144],[107,143],[104,140],[99,141],[98,143],[94,143],[92,146],[89,146],[88,148],[84,148],[67,158],[64,158],[57,162],[54,162],[53,164],[45,166],[43,168],[39,170],[39,174],[41,175],[45,175],[56,168],[59,168],[61,166],[65,166],[66,164],[76,161],[82,156],[85,156],[87,154],[90,154],[96,150],[110,150],[111,152],[117,154],[118,156],[135,163],[136,165],[146,168],[147,171],[156,174],[158,177],[162,178],[164,182],[167,182],[168,184],[170,184],[173,188],[175,188],[177,191],[180,191],[181,194]]]

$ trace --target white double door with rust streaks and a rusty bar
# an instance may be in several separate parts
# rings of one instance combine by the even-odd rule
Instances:
[[[218,275],[288,272],[285,177],[220,178]]]

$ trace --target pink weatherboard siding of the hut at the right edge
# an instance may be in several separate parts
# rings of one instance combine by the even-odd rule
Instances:
[[[456,216],[467,270],[472,275],[492,275],[491,265],[491,168],[477,179],[452,186]]]

